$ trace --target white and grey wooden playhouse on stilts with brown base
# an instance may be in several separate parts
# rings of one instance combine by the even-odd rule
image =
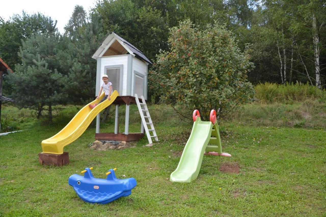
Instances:
[[[115,104],[114,133],[99,132],[100,114],[98,114],[96,116],[95,139],[117,141],[139,140],[144,136],[144,121],[141,123],[140,133],[128,132],[129,105],[130,103],[136,103],[135,94],[143,96],[144,100],[147,100],[148,65],[152,64],[152,62],[148,60],[139,49],[113,32],[103,41],[92,58],[97,60],[96,94],[99,92],[100,85],[103,82],[102,75],[108,75],[109,81],[112,83],[112,91],[117,90],[119,92],[119,97],[113,102],[113,104]],[[123,133],[118,131],[118,115],[119,106],[121,104],[126,104],[125,132]],[[146,112],[143,110],[141,113],[143,114],[141,115],[143,120],[143,116],[146,115]],[[146,129],[146,131],[148,130]]]

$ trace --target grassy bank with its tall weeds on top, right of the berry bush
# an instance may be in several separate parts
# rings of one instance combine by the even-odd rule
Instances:
[[[224,121],[266,127],[326,128],[326,91],[309,84],[259,84],[257,101]]]

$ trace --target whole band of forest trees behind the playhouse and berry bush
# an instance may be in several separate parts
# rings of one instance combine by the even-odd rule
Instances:
[[[37,109],[38,115],[43,110],[51,114],[51,103],[81,104],[96,95],[96,61],[91,56],[110,32],[155,63],[160,52],[169,51],[170,28],[183,20],[199,29],[217,23],[230,30],[240,50],[246,50],[254,63],[247,74],[253,85],[293,82],[325,88],[326,11],[322,1],[104,0],[88,12],[75,6],[64,34],[44,14],[22,12],[7,21],[0,17],[0,58],[14,72],[35,75],[34,80],[28,76],[5,79],[3,95],[14,98],[18,106]],[[17,82],[22,89],[27,85],[30,92],[13,89]],[[52,87],[47,88],[48,84]],[[157,102],[154,87],[149,86],[148,91],[149,99]],[[39,98],[49,96],[51,103],[36,103],[26,97],[31,92]]]

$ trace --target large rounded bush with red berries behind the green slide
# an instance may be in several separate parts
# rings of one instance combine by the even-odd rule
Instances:
[[[149,86],[179,114],[191,117],[199,109],[208,119],[216,109],[221,117],[253,97],[246,75],[253,64],[224,27],[215,23],[199,30],[186,20],[170,29],[168,42],[170,51],[161,51],[149,72]]]

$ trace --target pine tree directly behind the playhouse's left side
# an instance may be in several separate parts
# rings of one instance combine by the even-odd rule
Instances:
[[[61,65],[67,69],[69,78],[66,92],[71,102],[77,104],[94,98],[96,94],[96,60],[92,59],[92,55],[105,36],[100,34],[102,26],[98,17],[92,14],[90,20],[84,20],[82,27],[76,26],[73,28],[76,31],[65,38],[68,46],[64,50],[64,58],[61,58]]]

